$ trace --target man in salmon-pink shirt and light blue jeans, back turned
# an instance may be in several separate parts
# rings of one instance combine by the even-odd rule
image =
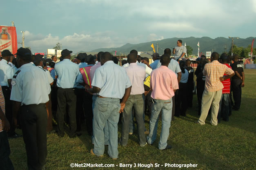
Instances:
[[[149,122],[149,136],[147,143],[153,144],[156,140],[156,130],[159,113],[162,110],[162,130],[158,148],[160,150],[170,149],[167,144],[169,128],[171,126],[172,97],[179,88],[176,74],[168,68],[170,57],[167,54],[161,56],[161,66],[151,73],[150,87],[152,88],[151,97],[153,100],[152,113]]]

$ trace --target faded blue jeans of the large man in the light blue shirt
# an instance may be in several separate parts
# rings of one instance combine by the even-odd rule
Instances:
[[[97,97],[93,108],[93,134],[94,149],[97,156],[104,154],[104,127],[107,122],[109,127],[108,154],[111,158],[118,158],[118,120],[120,111],[120,99]]]

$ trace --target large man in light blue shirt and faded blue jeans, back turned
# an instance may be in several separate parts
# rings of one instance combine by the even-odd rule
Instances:
[[[131,82],[125,69],[111,61],[112,56],[105,52],[100,57],[101,67],[93,76],[89,93],[97,93],[98,97],[93,109],[94,149],[91,154],[102,157],[104,154],[103,128],[107,122],[109,127],[108,154],[112,159],[118,158],[118,120],[123,112],[125,102],[131,93]],[[120,102],[120,99],[121,102]]]

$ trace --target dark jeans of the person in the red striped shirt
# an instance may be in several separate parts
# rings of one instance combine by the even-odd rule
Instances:
[[[229,93],[223,93],[221,96],[218,121],[220,121],[220,117],[223,117],[225,121],[229,121]]]

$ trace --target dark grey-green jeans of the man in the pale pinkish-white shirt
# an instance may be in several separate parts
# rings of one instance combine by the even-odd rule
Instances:
[[[144,133],[144,119],[143,119],[143,97],[141,95],[130,95],[126,104],[124,112],[122,113],[122,135],[120,144],[123,146],[127,145],[129,138],[129,124],[132,115],[132,108],[134,107],[134,114],[137,121],[138,127],[138,139],[140,146],[144,146],[146,144],[146,137]]]

